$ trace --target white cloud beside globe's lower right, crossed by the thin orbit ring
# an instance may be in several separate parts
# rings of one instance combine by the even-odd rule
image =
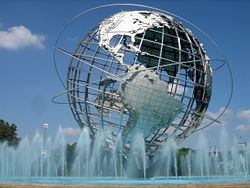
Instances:
[[[225,107],[220,107],[217,112],[207,111],[206,115],[213,118],[213,119],[216,119],[224,110],[225,110]],[[214,124],[215,125],[223,125],[223,126],[228,125],[230,120],[232,119],[232,117],[233,117],[232,110],[226,109],[224,114],[218,119],[218,121],[220,121],[221,123],[215,122]],[[203,124],[207,125],[208,123],[211,123],[211,122],[212,122],[212,120],[204,118]]]

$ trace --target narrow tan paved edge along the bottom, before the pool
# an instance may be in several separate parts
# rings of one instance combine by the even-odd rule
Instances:
[[[13,184],[0,183],[0,188],[250,188],[250,183],[233,184],[188,184],[188,185],[121,185],[121,186],[95,186],[95,185],[45,185],[45,184]]]

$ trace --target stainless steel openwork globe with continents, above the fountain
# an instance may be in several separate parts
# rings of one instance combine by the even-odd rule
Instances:
[[[67,73],[70,109],[92,135],[136,134],[153,153],[170,137],[184,140],[201,124],[212,93],[212,70],[202,43],[173,17],[119,12],[78,44]]]

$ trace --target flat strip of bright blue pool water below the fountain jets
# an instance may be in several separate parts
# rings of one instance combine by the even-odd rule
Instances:
[[[250,183],[250,176],[172,176],[148,179],[124,177],[0,177],[0,183],[64,185],[182,185]]]

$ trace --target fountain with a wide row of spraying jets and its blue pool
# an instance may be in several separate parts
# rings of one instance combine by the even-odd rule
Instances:
[[[67,145],[59,127],[54,139],[36,133],[25,137],[17,148],[0,144],[1,183],[58,183],[58,184],[183,184],[238,183],[250,180],[250,143],[239,150],[237,141],[230,147],[224,143],[228,136],[221,131],[221,147],[211,150],[206,138],[198,139],[199,146],[180,154],[174,140],[168,141],[152,157],[146,156],[142,135],[134,138],[128,156],[118,140],[112,147],[104,142],[108,133],[95,140],[84,128],[78,142]],[[73,149],[69,149],[69,147]],[[133,176],[133,177],[132,177]],[[98,180],[98,181],[96,181]],[[99,183],[98,183],[99,182]]]

